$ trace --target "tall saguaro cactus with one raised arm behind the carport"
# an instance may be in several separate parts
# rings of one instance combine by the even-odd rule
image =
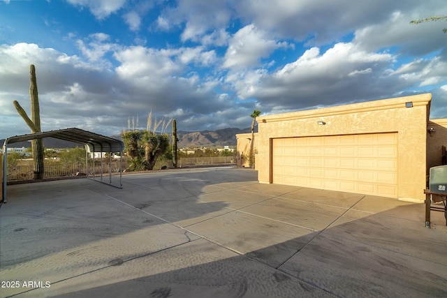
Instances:
[[[31,119],[29,119],[27,112],[23,110],[17,100],[13,101],[15,109],[24,119],[25,123],[31,128],[31,133],[41,132],[41,114],[39,107],[36,68],[33,64],[29,66],[29,97],[31,99]],[[34,179],[43,178],[43,142],[42,139],[31,140],[31,149],[33,150],[34,159]]]

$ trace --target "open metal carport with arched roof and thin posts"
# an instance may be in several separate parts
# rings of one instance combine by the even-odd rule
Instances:
[[[104,135],[98,135],[97,133],[91,133],[90,131],[84,131],[80,128],[65,128],[57,131],[44,131],[41,133],[30,133],[27,135],[15,135],[13,137],[8,137],[3,143],[3,191],[2,198],[3,202],[6,203],[6,186],[7,186],[7,171],[8,171],[8,144],[16,142],[24,142],[35,139],[43,139],[45,137],[54,137],[59,140],[66,140],[70,142],[80,143],[85,145],[86,155],[89,153],[94,154],[94,152],[119,152],[120,163],[119,163],[119,186],[117,188],[122,188],[122,151],[124,150],[124,143],[120,140],[114,139],[112,137],[106,137]],[[109,158],[110,158],[109,154]],[[88,156],[86,156],[86,167],[88,169]],[[109,185],[112,185],[109,163]],[[89,173],[87,170],[87,177]],[[93,179],[95,179],[95,173],[93,173]],[[103,156],[101,154],[101,181],[103,182]]]

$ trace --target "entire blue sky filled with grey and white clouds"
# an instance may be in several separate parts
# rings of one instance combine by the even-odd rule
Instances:
[[[29,65],[42,131],[103,135],[139,119],[182,131],[430,92],[447,118],[446,0],[0,0],[0,138],[29,133]]]

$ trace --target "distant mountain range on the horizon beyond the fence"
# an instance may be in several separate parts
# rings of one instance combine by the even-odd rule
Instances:
[[[177,147],[223,147],[236,146],[236,136],[238,133],[250,133],[250,128],[223,128],[217,131],[177,131]],[[112,135],[111,137],[121,140],[121,135]],[[3,147],[5,140],[0,140],[0,146]],[[83,144],[59,140],[54,137],[45,137],[43,139],[45,148],[75,148],[83,147]],[[31,142],[17,142],[8,144],[8,147],[28,148]]]

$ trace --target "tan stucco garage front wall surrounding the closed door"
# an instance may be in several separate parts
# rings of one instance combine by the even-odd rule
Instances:
[[[431,98],[431,94],[420,94],[258,117],[258,180],[271,183],[272,138],[397,132],[398,197],[424,200]],[[412,102],[413,107],[406,107],[407,102]],[[318,125],[318,120],[326,124]]]

